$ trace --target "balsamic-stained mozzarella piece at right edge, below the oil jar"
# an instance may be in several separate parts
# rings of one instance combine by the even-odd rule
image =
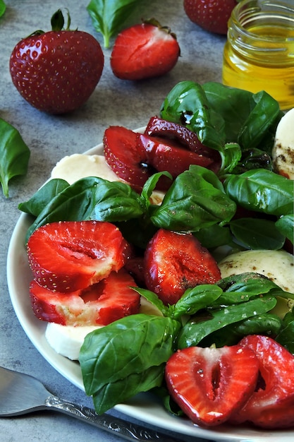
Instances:
[[[294,179],[294,108],[278,123],[272,150],[274,172]]]

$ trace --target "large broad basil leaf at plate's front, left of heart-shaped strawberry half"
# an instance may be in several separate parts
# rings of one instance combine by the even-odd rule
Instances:
[[[119,388],[123,402],[161,385],[164,364],[175,350],[179,329],[180,323],[171,318],[140,313],[86,336],[79,361],[87,395],[99,397],[97,412],[116,405],[113,393]]]

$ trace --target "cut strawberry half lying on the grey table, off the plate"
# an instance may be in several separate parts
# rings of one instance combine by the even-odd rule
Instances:
[[[176,35],[151,19],[118,34],[111,53],[111,69],[123,80],[158,77],[171,71],[179,55]]]

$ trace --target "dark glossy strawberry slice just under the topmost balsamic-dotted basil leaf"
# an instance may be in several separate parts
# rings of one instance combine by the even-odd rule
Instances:
[[[203,145],[197,137],[197,134],[190,131],[190,129],[185,126],[155,116],[149,119],[145,129],[145,135],[164,138],[164,140],[166,138],[175,139],[180,143],[178,147],[186,148],[197,153],[200,157],[205,157],[203,160],[203,164],[205,163],[204,167],[208,167],[214,172],[218,172],[221,167],[221,157],[219,152]],[[209,162],[207,162],[207,160],[209,160]],[[199,165],[202,165],[201,162]]]

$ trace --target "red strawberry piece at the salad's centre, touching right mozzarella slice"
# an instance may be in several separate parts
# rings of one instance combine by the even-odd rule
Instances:
[[[145,282],[164,304],[175,304],[186,289],[221,278],[216,261],[189,233],[159,229],[145,251]]]

